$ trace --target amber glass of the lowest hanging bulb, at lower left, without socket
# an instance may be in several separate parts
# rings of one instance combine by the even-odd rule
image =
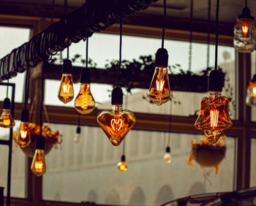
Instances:
[[[45,150],[35,150],[34,158],[31,164],[31,171],[37,176],[42,176],[45,174]]]

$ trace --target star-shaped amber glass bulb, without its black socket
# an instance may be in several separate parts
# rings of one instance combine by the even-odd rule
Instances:
[[[232,126],[228,113],[228,99],[220,92],[210,92],[201,101],[200,115],[195,122],[196,129],[202,129],[208,142],[216,144],[222,131]]]

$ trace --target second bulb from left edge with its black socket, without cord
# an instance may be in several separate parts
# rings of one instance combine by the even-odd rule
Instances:
[[[20,121],[20,128],[18,130],[16,141],[21,148],[26,148],[31,142],[29,131],[29,110],[22,110]]]

